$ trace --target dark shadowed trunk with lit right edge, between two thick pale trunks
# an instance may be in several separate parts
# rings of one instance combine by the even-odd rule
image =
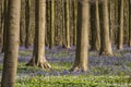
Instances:
[[[91,29],[92,29],[92,47],[91,50],[99,50],[100,36],[99,36],[99,13],[98,13],[98,0],[91,5]]]

